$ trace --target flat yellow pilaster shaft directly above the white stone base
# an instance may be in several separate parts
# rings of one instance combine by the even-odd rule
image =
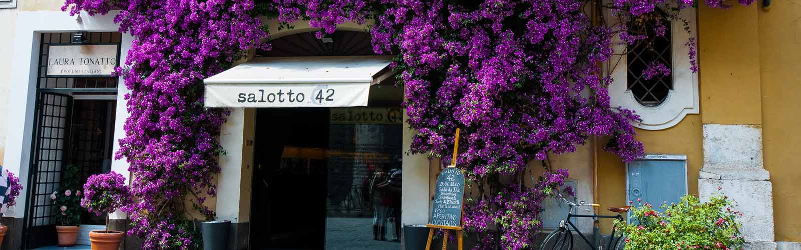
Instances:
[[[759,8],[700,4],[698,59],[705,124],[762,124],[759,98]]]

